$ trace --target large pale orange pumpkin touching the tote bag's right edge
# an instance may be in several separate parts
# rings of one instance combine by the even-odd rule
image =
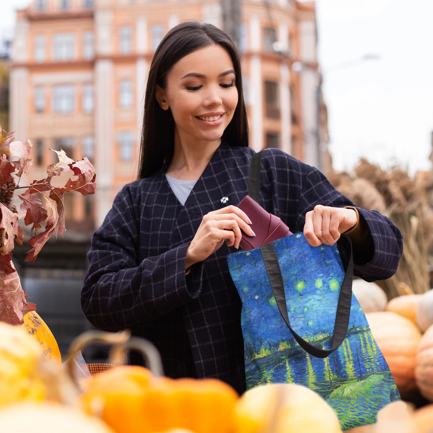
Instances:
[[[415,391],[415,356],[421,333],[406,317],[392,311],[367,313],[372,334],[402,397]]]

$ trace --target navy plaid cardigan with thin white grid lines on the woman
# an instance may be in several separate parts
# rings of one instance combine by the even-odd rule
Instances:
[[[189,242],[203,216],[237,205],[248,191],[254,151],[222,143],[182,206],[161,169],[127,184],[117,194],[88,253],[81,291],[87,319],[98,329],[129,328],[150,339],[171,377],[219,378],[245,390],[241,301],[230,277],[226,243],[185,276]],[[293,232],[317,204],[353,206],[325,176],[278,149],[262,154],[260,204]],[[223,204],[222,197],[228,197]],[[374,253],[356,263],[367,281],[389,278],[397,269],[402,237],[377,211],[359,209],[370,228]]]

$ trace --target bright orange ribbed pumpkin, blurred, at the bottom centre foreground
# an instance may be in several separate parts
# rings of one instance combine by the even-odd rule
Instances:
[[[155,378],[143,367],[122,366],[87,379],[84,389],[84,411],[102,417],[116,433],[233,431],[238,395],[216,379]]]

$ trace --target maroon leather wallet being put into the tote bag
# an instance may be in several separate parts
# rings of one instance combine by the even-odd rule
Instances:
[[[288,226],[281,221],[281,218],[266,212],[249,195],[239,203],[238,207],[252,221],[250,227],[255,233],[255,236],[249,236],[242,230],[242,240],[240,242],[242,249],[249,251],[292,234]]]

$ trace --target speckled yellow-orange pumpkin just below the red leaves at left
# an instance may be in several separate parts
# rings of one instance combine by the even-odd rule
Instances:
[[[29,311],[24,318],[23,328],[41,345],[45,359],[61,366],[61,354],[57,341],[36,311]]]

